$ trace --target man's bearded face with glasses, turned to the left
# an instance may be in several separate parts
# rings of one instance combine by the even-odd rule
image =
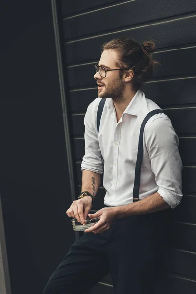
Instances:
[[[117,53],[114,50],[104,50],[98,65],[102,65],[108,70],[120,69],[120,67],[116,66],[117,58]],[[104,78],[97,72],[94,78],[98,84],[98,97],[112,98],[114,102],[123,99],[125,82],[120,77],[120,71],[108,71]]]

